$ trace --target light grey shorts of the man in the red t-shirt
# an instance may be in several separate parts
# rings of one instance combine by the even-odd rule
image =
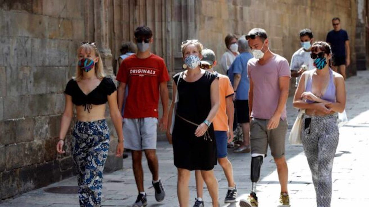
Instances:
[[[124,118],[124,148],[135,151],[156,149],[157,124],[155,117]]]

